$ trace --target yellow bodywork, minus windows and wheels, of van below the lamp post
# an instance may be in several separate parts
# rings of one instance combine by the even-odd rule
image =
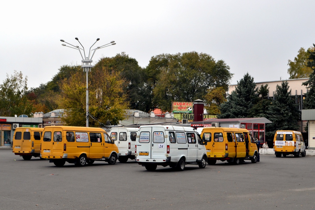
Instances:
[[[45,133],[51,133],[51,140],[45,139]],[[69,133],[75,135],[73,141],[69,141]],[[100,135],[99,142],[90,141],[90,133]],[[88,159],[108,158],[112,152],[118,154],[118,148],[114,143],[106,143],[102,128],[76,127],[76,126],[47,126],[42,135],[41,157],[48,159],[77,159],[84,154]],[[57,136],[55,139],[55,136]]]

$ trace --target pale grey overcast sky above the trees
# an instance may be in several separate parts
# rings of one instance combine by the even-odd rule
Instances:
[[[0,83],[14,70],[28,87],[47,83],[62,65],[81,65],[78,50],[125,52],[146,67],[152,56],[196,51],[224,60],[236,84],[289,79],[288,60],[315,43],[315,1],[4,1],[1,3]],[[93,48],[92,48],[93,49]]]

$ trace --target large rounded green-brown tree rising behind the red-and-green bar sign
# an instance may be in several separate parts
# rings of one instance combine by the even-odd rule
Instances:
[[[187,52],[153,56],[146,71],[153,106],[171,110],[172,101],[203,99],[210,87],[228,90],[230,67],[205,53]]]

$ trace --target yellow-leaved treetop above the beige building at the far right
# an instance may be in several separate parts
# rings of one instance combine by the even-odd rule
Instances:
[[[313,70],[307,65],[307,62],[310,53],[314,52],[314,50],[314,47],[310,47],[305,51],[305,49],[301,47],[294,61],[288,60],[289,79],[307,78],[310,76]]]

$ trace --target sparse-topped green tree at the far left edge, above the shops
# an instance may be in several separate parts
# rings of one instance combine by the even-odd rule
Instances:
[[[7,74],[7,78],[0,85],[0,116],[31,116],[33,105],[26,97],[27,89],[27,77],[23,78],[22,72],[14,70],[11,77]]]

